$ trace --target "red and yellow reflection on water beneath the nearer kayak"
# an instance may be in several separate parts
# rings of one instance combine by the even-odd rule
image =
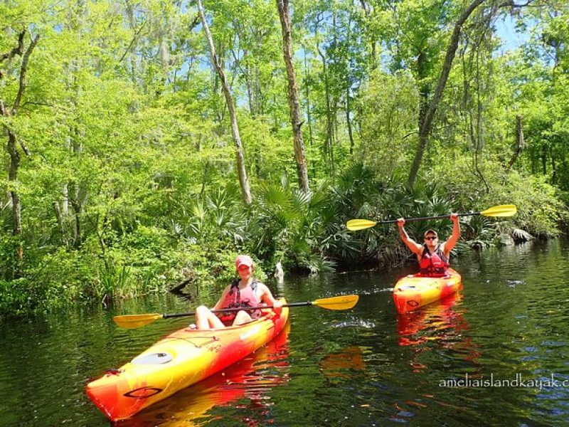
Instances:
[[[228,406],[246,409],[249,426],[257,425],[253,413],[262,424],[271,422],[266,418],[273,405],[270,391],[289,380],[289,330],[287,323],[275,339],[257,352],[114,426],[196,426],[216,418],[215,413],[210,413],[212,409]]]

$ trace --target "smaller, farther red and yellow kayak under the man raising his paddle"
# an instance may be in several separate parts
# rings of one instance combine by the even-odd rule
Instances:
[[[393,288],[393,302],[400,314],[417,310],[462,289],[459,273],[449,268],[442,278],[412,274],[401,278]]]

